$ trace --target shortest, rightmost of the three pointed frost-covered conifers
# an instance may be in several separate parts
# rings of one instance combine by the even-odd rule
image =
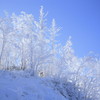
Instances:
[[[79,69],[79,62],[77,57],[74,55],[74,50],[72,48],[71,37],[69,37],[66,45],[62,48],[62,62],[64,66],[64,71],[66,74],[75,74]]]

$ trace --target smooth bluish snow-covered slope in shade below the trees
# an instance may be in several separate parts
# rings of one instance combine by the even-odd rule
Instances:
[[[0,100],[66,100],[41,78],[0,71]]]

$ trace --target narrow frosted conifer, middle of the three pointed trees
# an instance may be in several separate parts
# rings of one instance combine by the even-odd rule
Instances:
[[[58,36],[58,32],[60,31],[60,27],[57,27],[55,19],[52,20],[51,27],[49,29],[50,36],[49,36],[49,45],[50,45],[50,61],[49,63],[49,74],[50,75],[57,75],[58,74],[58,47],[59,44],[57,43],[56,37]]]

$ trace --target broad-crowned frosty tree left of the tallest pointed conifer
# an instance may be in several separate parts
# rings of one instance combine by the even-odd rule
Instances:
[[[22,68],[29,67],[29,44],[32,41],[33,34],[33,16],[31,14],[26,14],[21,12],[21,15],[12,15],[12,24],[15,32],[15,37],[17,38],[16,45],[20,49],[20,66]],[[32,45],[33,46],[33,45]]]

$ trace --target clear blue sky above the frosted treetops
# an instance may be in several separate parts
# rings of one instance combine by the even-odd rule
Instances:
[[[37,18],[40,6],[48,12],[48,22],[56,19],[62,27],[59,41],[64,45],[72,36],[75,54],[85,56],[89,51],[100,54],[100,0],[0,0],[0,16],[21,11]]]

